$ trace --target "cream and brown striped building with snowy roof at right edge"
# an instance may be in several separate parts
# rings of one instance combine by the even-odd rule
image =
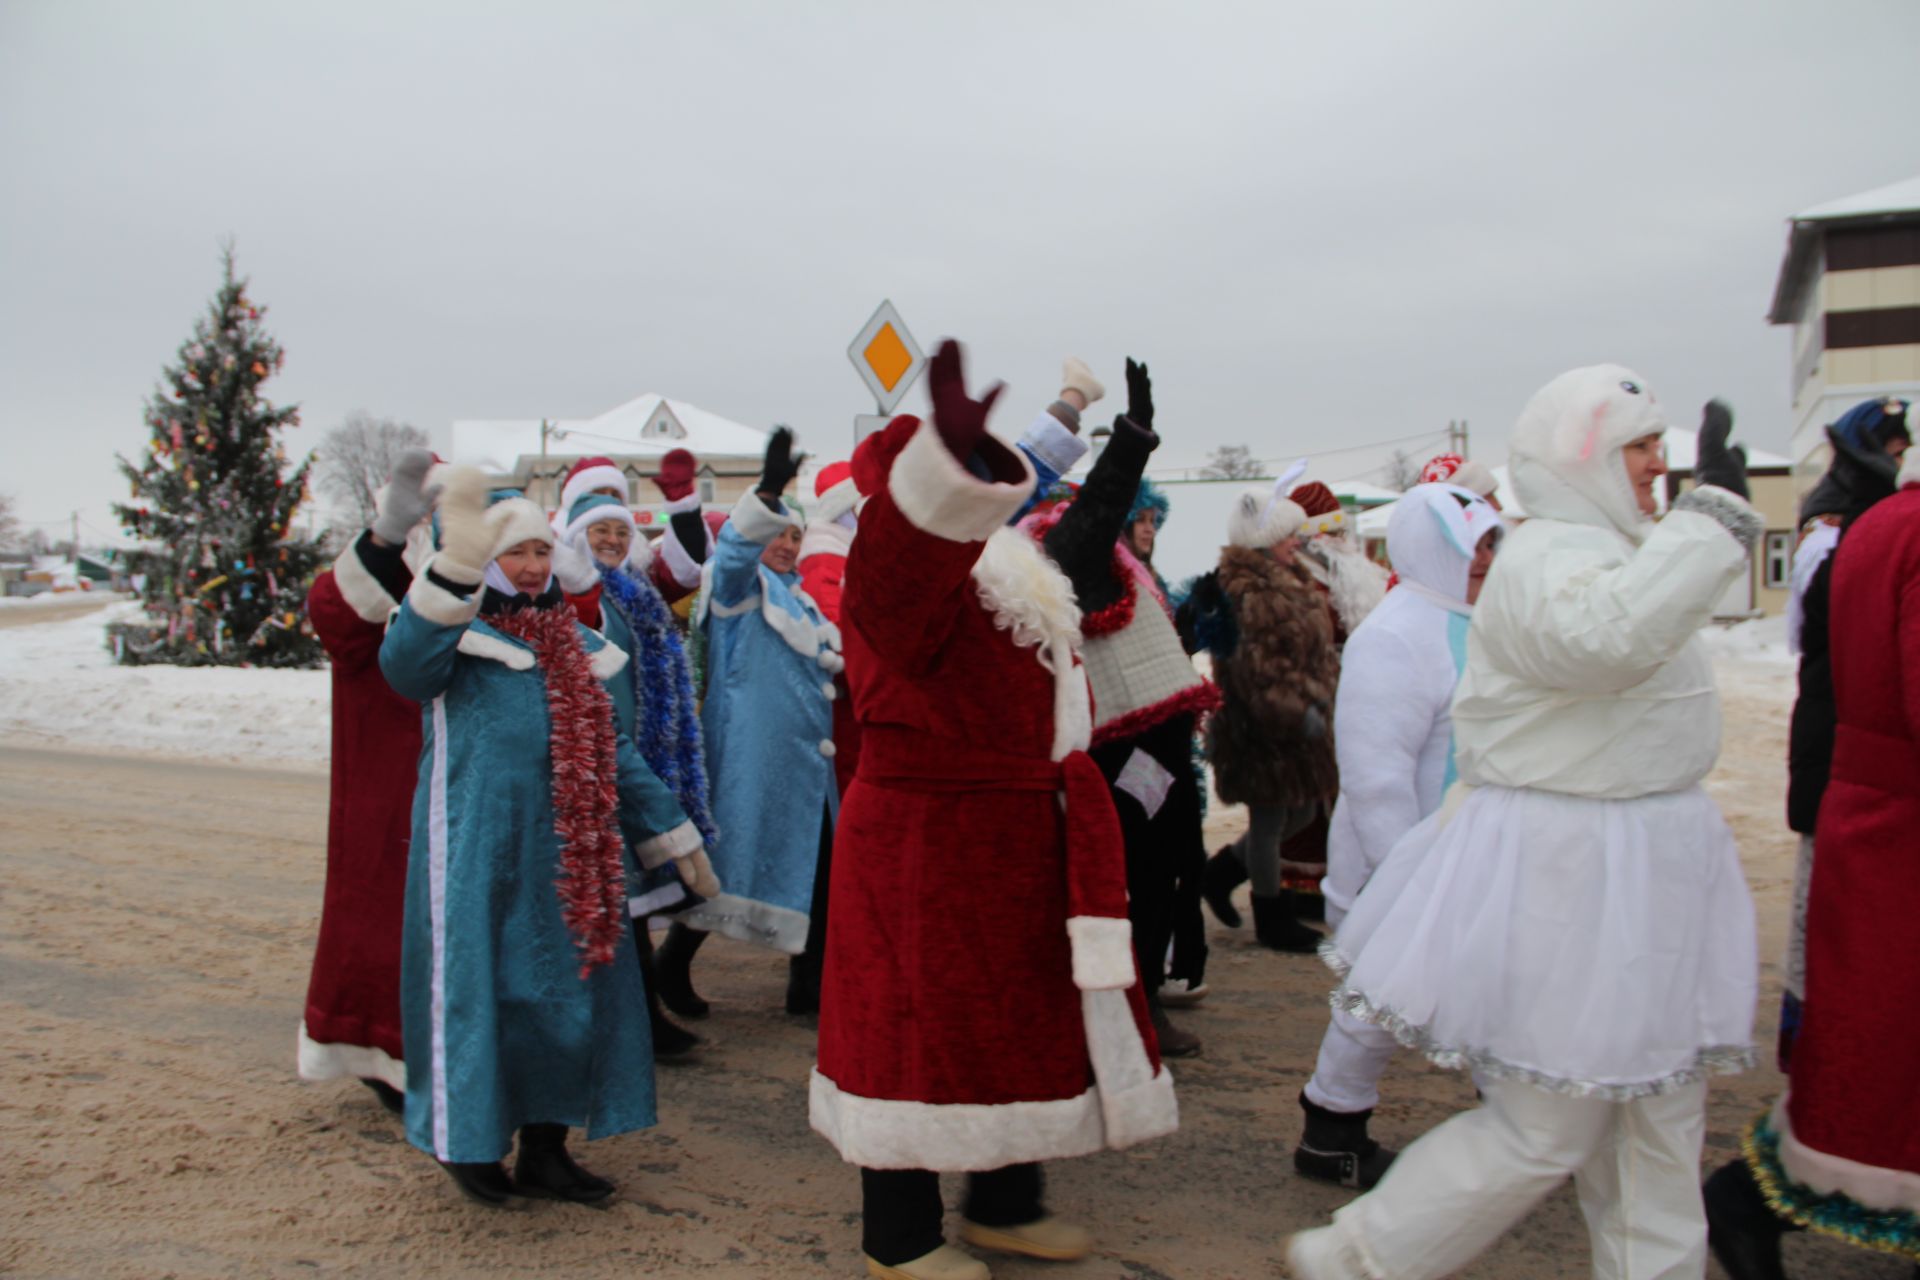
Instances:
[[[1772,324],[1793,326],[1793,468],[1828,466],[1822,428],[1862,399],[1920,399],[1920,177],[1795,213]]]

